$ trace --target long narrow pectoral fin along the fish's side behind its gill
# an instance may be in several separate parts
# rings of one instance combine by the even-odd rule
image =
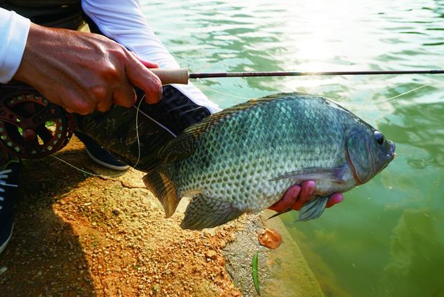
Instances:
[[[310,167],[299,169],[296,171],[286,172],[271,180],[282,180],[284,178],[291,178],[296,180],[296,183],[303,180],[332,180],[336,183],[344,183],[343,176],[348,164],[344,163],[338,167]]]

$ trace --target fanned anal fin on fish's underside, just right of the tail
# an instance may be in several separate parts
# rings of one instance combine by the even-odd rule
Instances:
[[[228,202],[197,194],[187,206],[180,227],[190,230],[213,228],[236,219],[242,213]]]

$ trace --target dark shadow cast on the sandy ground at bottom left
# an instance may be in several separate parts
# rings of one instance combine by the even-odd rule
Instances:
[[[83,150],[59,153],[79,167]],[[87,178],[55,158],[26,161],[15,205],[15,226],[0,255],[1,296],[92,296],[94,286],[78,235],[53,203]]]

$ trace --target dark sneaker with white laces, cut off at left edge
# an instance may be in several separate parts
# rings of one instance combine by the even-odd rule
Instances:
[[[22,163],[15,157],[10,157],[0,165],[0,253],[6,248],[12,235],[14,199],[21,169]]]

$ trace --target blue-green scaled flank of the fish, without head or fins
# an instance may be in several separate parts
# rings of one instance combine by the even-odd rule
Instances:
[[[213,198],[232,201],[241,209],[258,212],[275,203],[292,183],[291,180],[270,183],[269,179],[298,168],[334,165],[332,162],[337,161],[337,146],[327,146],[323,148],[323,155],[319,155],[320,148],[313,144],[318,141],[343,143],[343,135],[334,133],[337,125],[329,127],[332,130],[330,133],[323,129],[325,133],[320,138],[316,124],[308,127],[306,123],[318,123],[314,119],[327,120],[328,116],[334,122],[336,114],[327,112],[327,117],[323,117],[323,112],[311,110],[305,100],[281,100],[262,105],[255,110],[241,112],[238,117],[232,117],[208,130],[196,144],[194,154],[178,162],[176,170],[172,171],[173,176],[177,177],[173,178],[173,182],[180,185],[179,195],[203,192]],[[299,121],[295,121],[295,118]],[[250,148],[248,154],[245,154],[242,144]],[[209,167],[204,166],[203,158],[210,162]],[[339,162],[345,162],[345,158]],[[257,166],[246,167],[246,164]],[[208,178],[212,173],[216,173],[219,180]],[[234,185],[236,174],[246,179],[244,185]],[[253,184],[259,186],[246,186]],[[248,196],[263,199],[244,198]]]

